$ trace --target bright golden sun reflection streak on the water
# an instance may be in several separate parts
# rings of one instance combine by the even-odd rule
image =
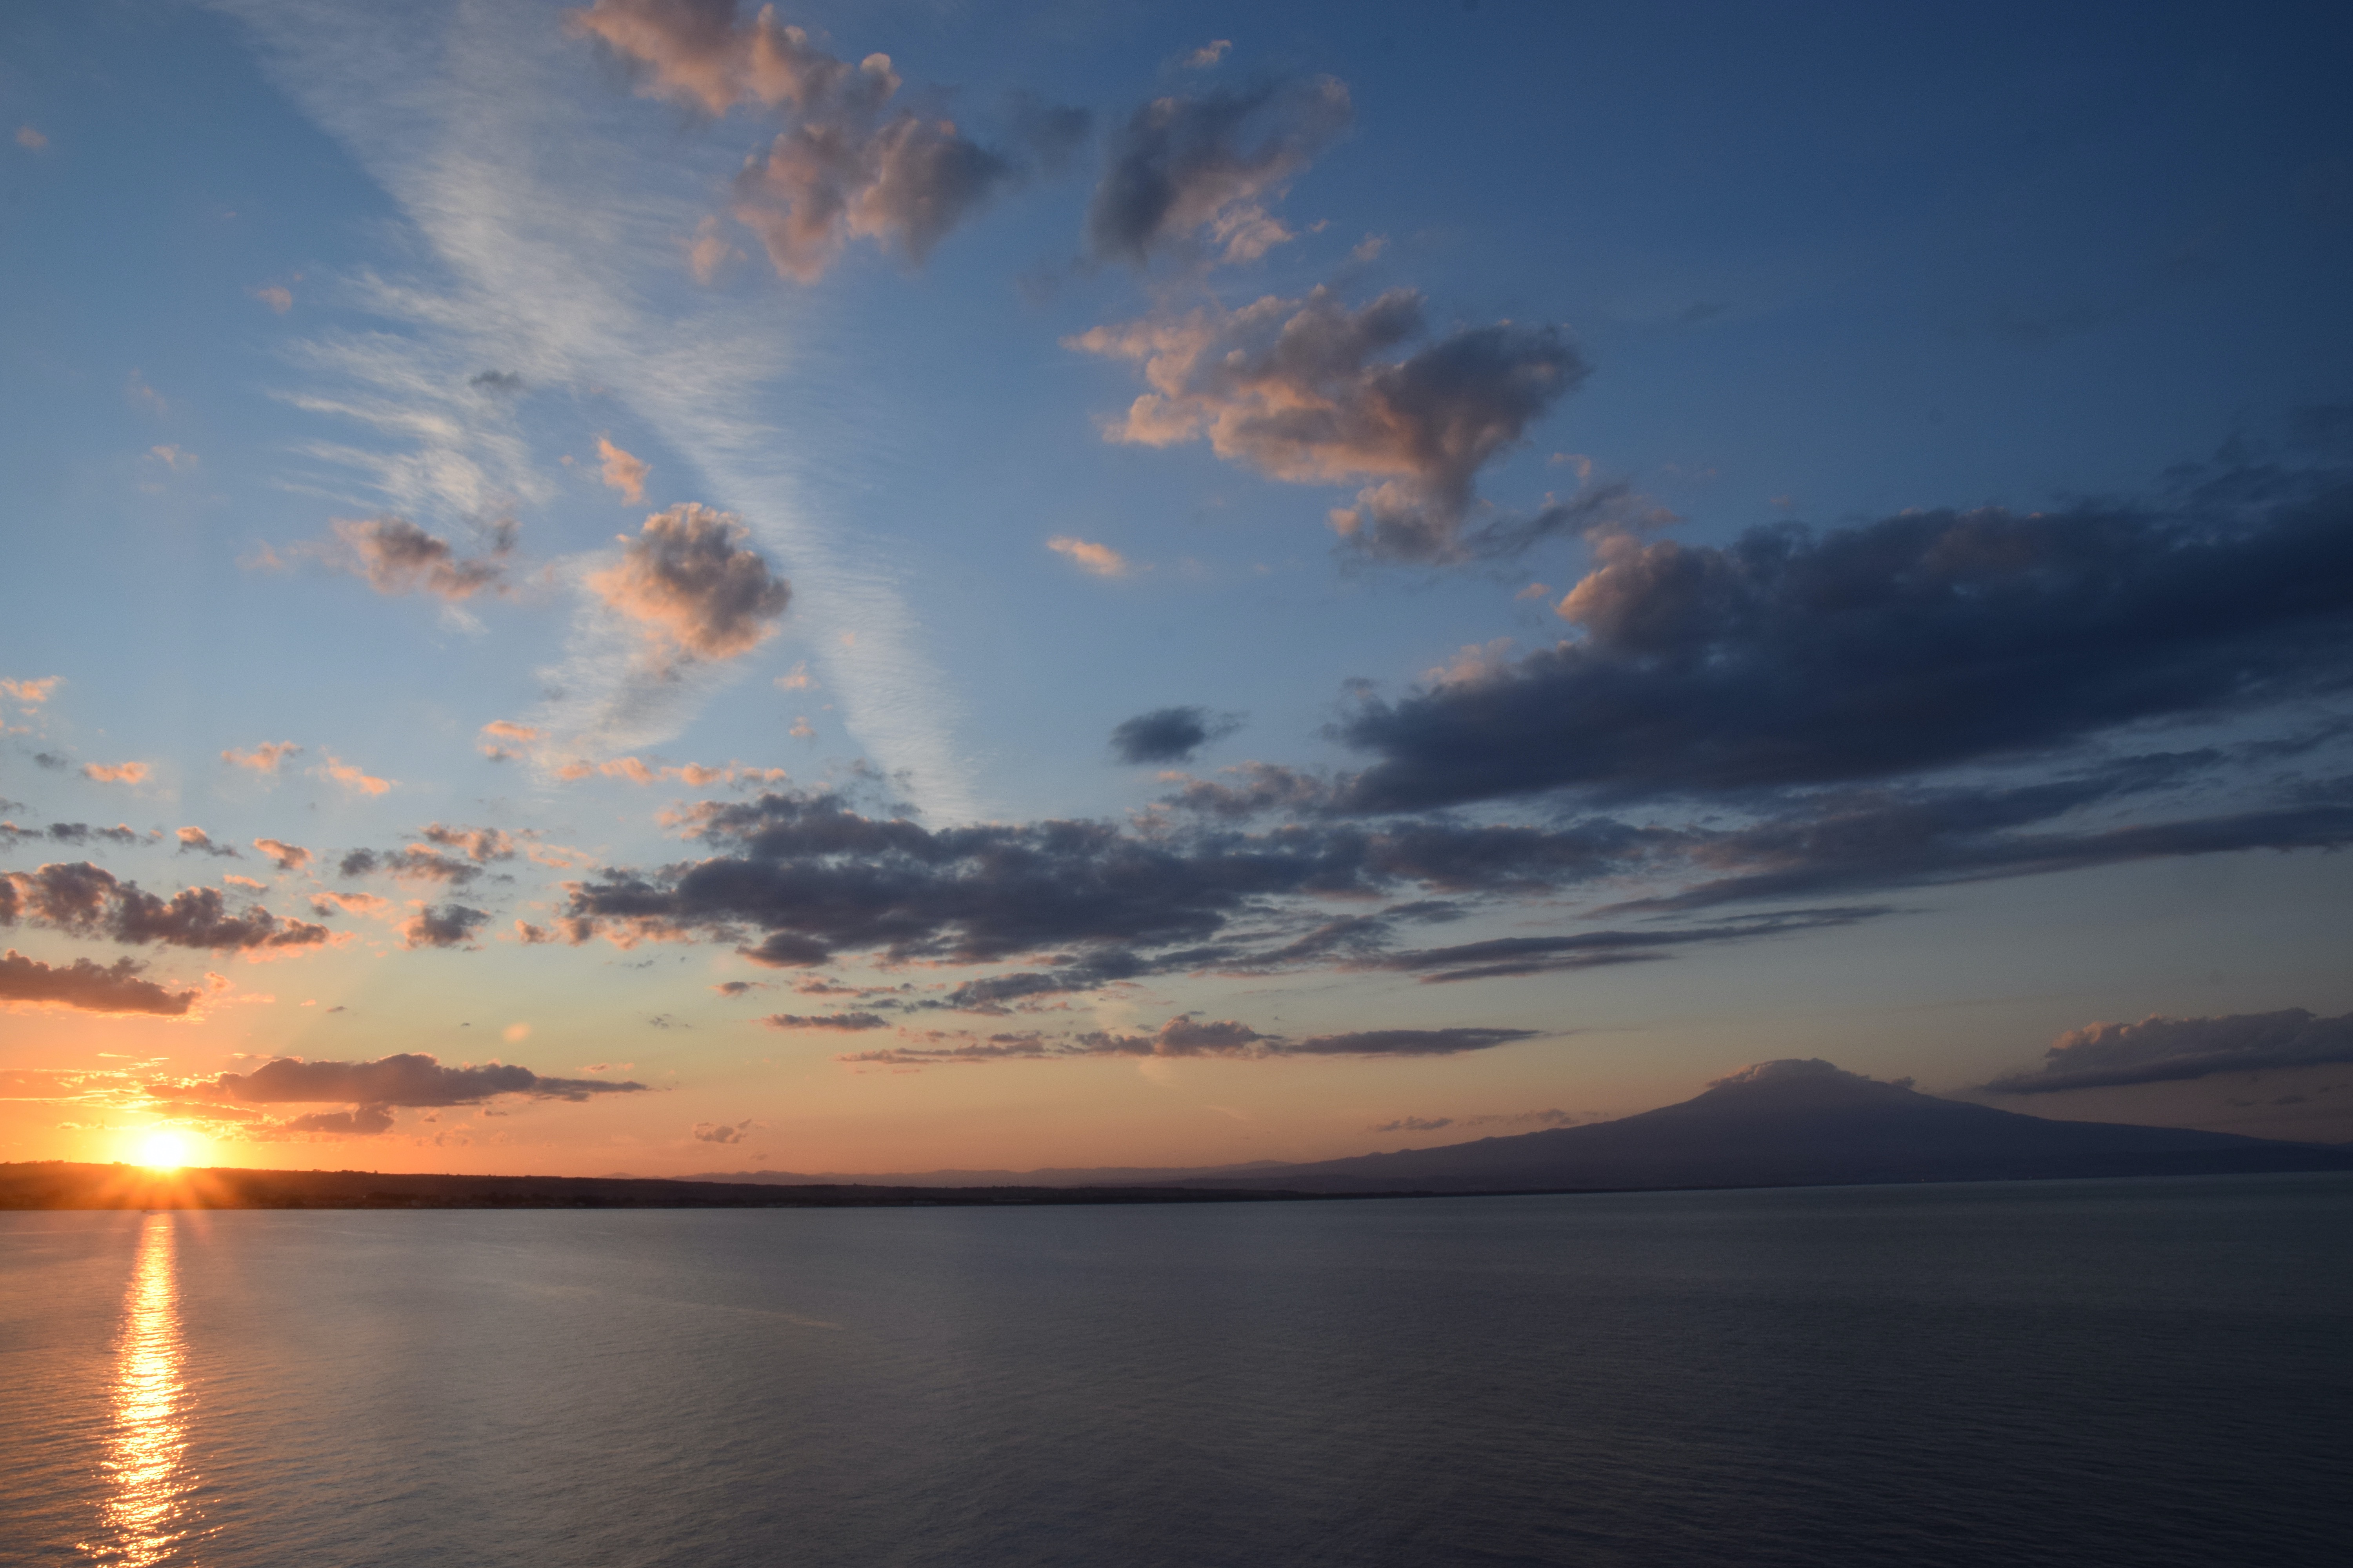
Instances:
[[[99,1540],[82,1552],[101,1563],[148,1568],[198,1535],[195,1474],[188,1472],[184,1347],[179,1335],[176,1225],[148,1215],[139,1262],[122,1298],[115,1342],[113,1432],[106,1439]]]

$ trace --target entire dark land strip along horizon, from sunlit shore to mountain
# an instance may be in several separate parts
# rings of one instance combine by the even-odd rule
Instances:
[[[0,1164],[0,1208],[887,1208],[915,1204],[1235,1204],[1435,1192],[1831,1187],[2054,1175],[2353,1171],[2353,1147],[2111,1121],[2045,1121],[1880,1084],[1831,1063],[1762,1063],[1706,1093],[1591,1126],[1318,1164],[1191,1171],[555,1178],[369,1171],[169,1171]]]

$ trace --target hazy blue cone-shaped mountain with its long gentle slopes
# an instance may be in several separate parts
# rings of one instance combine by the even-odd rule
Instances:
[[[1624,1192],[1831,1187],[2057,1175],[2353,1171],[2353,1147],[2115,1121],[2047,1121],[1939,1100],[1824,1060],[1760,1063],[1704,1093],[1619,1121],[1315,1164],[1101,1171],[925,1171],[699,1180],[906,1187],[1188,1187],[1282,1192]]]

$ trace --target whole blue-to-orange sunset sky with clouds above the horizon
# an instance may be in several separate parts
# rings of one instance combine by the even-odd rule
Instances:
[[[2341,7],[0,19],[0,1159],[2353,1138]]]

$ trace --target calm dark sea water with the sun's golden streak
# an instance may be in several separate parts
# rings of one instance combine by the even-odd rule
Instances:
[[[0,1561],[2353,1561],[2353,1178],[0,1215]]]

